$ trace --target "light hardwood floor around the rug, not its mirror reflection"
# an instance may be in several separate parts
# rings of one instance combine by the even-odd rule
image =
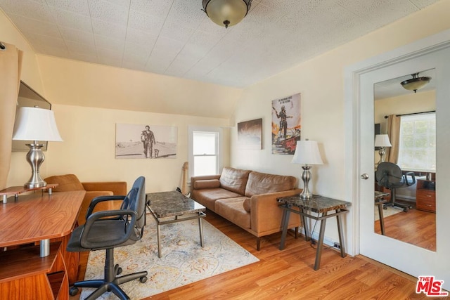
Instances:
[[[335,249],[326,247],[321,268],[314,270],[316,246],[301,236],[296,240],[288,235],[286,247],[280,251],[281,234],[269,235],[257,251],[250,233],[211,211],[207,211],[206,220],[257,256],[259,262],[148,299],[428,299],[425,294],[416,294],[416,278],[364,256],[342,259]],[[82,254],[80,278],[86,259],[87,252]]]

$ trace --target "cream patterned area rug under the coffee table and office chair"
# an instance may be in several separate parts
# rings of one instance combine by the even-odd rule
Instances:
[[[161,226],[162,257],[158,258],[156,223],[147,216],[143,239],[127,247],[115,249],[115,263],[122,274],[148,271],[148,280],[127,282],[120,287],[131,299],[145,297],[181,287],[259,261],[243,247],[214,228],[203,219],[205,247],[200,246],[198,221],[188,220]],[[89,254],[85,280],[103,278],[105,251]],[[83,289],[80,299],[85,299],[94,289]],[[105,293],[99,299],[117,299]]]

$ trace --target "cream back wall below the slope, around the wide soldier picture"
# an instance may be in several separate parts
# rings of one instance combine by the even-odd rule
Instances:
[[[146,176],[146,189],[152,192],[181,187],[181,167],[188,161],[188,126],[226,126],[228,119],[189,117],[127,110],[108,110],[73,105],[53,105],[63,142],[49,142],[41,177],[76,174],[81,181],[127,181]],[[150,124],[176,126],[176,158],[115,159],[115,126]],[[158,136],[156,137],[158,140]],[[229,164],[229,129],[224,129],[224,164]],[[8,186],[21,185],[30,177],[26,152],[13,152]],[[14,167],[13,167],[14,166]]]

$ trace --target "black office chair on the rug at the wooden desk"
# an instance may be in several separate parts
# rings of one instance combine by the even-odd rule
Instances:
[[[103,280],[75,282],[70,295],[75,296],[79,287],[97,287],[86,299],[97,299],[105,292],[113,292],[120,299],[129,296],[119,287],[124,282],[139,278],[147,281],[147,271],[117,276],[122,268],[114,264],[114,248],[134,244],[140,240],[146,223],[146,179],[139,177],[126,196],[101,196],[91,201],[86,213],[86,223],[75,228],[68,242],[69,252],[106,250],[105,277]],[[120,209],[93,213],[96,204],[110,200],[122,200]]]

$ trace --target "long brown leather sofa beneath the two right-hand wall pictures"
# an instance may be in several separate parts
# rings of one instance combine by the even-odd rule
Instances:
[[[283,228],[283,212],[276,199],[302,192],[297,178],[225,167],[220,175],[193,176],[191,198],[257,237],[277,233]],[[300,226],[300,217],[292,214],[288,228]]]

